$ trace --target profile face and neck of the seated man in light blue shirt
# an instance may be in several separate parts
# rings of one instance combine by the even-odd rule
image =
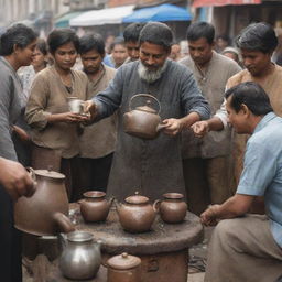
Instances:
[[[239,134],[249,133],[246,129],[247,115],[245,109],[240,109],[238,112],[231,107],[232,95],[230,95],[226,101],[226,110],[228,113],[229,123],[232,124],[235,131]]]

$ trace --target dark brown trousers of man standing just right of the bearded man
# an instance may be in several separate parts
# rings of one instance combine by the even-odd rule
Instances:
[[[209,204],[221,204],[231,194],[229,156],[183,160],[188,209],[200,215]]]

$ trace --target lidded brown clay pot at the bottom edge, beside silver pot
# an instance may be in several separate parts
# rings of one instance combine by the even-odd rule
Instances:
[[[126,252],[115,256],[107,261],[107,282],[141,282],[141,259]]]

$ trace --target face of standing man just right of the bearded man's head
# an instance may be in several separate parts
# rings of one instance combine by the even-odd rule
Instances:
[[[214,44],[209,44],[206,39],[188,41],[189,55],[199,66],[207,64],[213,56]]]

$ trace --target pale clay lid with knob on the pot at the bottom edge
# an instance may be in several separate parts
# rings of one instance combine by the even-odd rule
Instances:
[[[130,256],[127,252],[122,252],[119,256],[115,256],[107,261],[107,264],[112,269],[124,270],[133,269],[140,265],[141,259],[134,256]]]

